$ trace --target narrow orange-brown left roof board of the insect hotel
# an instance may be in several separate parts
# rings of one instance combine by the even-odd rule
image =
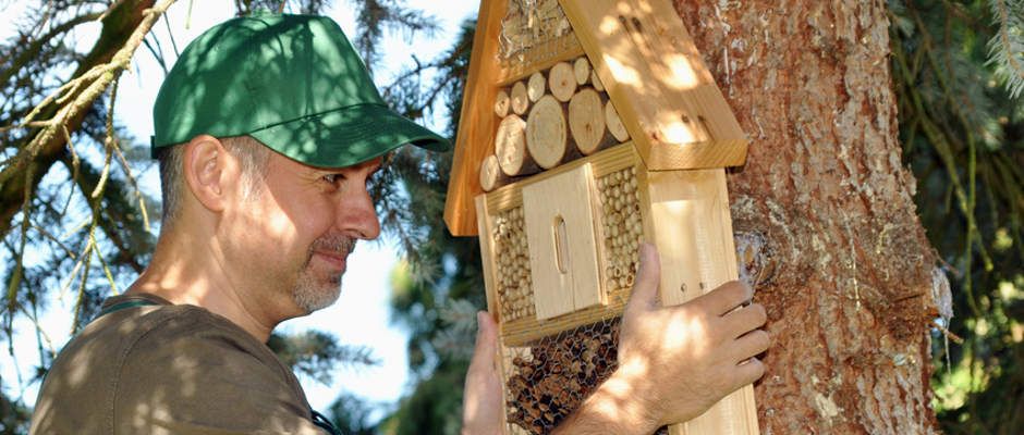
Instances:
[[[476,35],[473,37],[473,61],[466,79],[465,98],[462,102],[459,135],[455,138],[455,154],[444,204],[444,222],[454,236],[476,234],[476,210],[473,199],[483,192],[479,167],[487,154],[495,152],[493,114],[498,86],[498,35],[508,0],[481,1],[477,17]],[[488,108],[483,110],[483,108]]]

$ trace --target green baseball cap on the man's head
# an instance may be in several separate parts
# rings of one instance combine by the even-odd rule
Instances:
[[[343,167],[438,134],[380,98],[341,27],[326,16],[259,14],[221,23],[185,48],[153,108],[153,153],[200,134],[249,135],[313,166]]]

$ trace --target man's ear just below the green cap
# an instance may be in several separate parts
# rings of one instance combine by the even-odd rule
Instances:
[[[185,145],[183,175],[192,195],[212,212],[224,209],[237,169],[224,145],[214,136],[199,135]]]

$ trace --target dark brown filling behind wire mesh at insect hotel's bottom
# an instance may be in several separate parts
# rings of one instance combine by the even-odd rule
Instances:
[[[564,331],[512,358],[505,381],[508,422],[548,434],[617,366],[620,319]]]

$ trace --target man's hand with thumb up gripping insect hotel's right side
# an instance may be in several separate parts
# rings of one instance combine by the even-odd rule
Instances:
[[[654,246],[641,248],[633,295],[622,316],[619,370],[657,425],[700,415],[711,405],[753,383],[768,349],[765,308],[746,304],[753,291],[730,282],[684,304],[661,308],[661,269]]]

